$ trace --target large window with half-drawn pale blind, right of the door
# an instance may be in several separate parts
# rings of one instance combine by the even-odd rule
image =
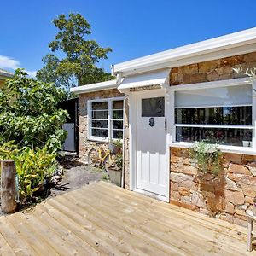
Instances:
[[[252,85],[175,91],[176,141],[252,147]]]

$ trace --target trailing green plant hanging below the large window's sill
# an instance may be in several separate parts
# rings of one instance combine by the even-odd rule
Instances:
[[[218,175],[221,171],[222,152],[216,144],[207,143],[205,141],[196,142],[192,147],[192,157],[197,160],[199,172],[210,172]]]

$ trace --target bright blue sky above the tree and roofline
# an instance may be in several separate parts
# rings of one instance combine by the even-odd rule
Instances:
[[[113,52],[100,67],[256,26],[253,0],[12,0],[1,1],[0,68],[43,66],[55,16],[76,12],[92,38]]]

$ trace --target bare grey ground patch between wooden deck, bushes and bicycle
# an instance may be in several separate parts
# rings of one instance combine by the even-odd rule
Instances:
[[[91,182],[108,179],[107,172],[101,168],[87,166],[76,158],[66,156],[65,159],[61,159],[59,162],[63,167],[64,175],[61,182],[51,189],[50,196],[61,195],[70,190],[79,189]]]

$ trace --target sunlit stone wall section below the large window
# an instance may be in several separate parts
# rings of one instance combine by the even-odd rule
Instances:
[[[171,148],[170,202],[246,225],[256,196],[256,156],[224,154],[218,177],[201,176],[189,149]]]

